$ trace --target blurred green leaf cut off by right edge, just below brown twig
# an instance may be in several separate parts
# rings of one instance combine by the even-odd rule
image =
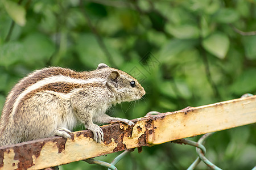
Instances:
[[[243,48],[248,59],[256,59],[256,36],[243,36]]]

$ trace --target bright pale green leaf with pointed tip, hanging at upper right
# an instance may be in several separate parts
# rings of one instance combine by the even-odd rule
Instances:
[[[229,38],[224,33],[215,32],[203,40],[203,46],[209,53],[223,59],[229,49]]]

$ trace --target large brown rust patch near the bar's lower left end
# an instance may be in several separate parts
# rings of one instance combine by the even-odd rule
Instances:
[[[38,158],[45,143],[46,142],[28,142],[26,145],[23,146],[14,146],[14,159],[19,160],[18,169],[27,169],[35,165],[33,163],[32,156],[35,155],[36,158]]]

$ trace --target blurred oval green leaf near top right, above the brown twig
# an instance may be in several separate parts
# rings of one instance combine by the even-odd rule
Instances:
[[[214,19],[220,23],[233,23],[239,19],[239,14],[232,8],[220,8]]]

